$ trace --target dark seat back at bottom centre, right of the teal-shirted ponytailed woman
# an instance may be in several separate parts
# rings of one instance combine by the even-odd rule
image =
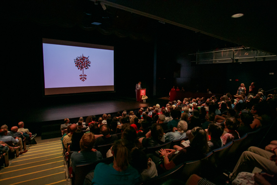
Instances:
[[[175,168],[168,170],[163,174],[150,178],[149,180],[145,181],[143,184],[144,185],[162,184],[163,182],[169,179],[175,179],[176,177],[180,176],[181,171],[183,170],[183,167],[184,167],[184,164],[179,164]]]

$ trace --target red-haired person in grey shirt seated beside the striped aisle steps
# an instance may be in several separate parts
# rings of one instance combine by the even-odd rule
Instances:
[[[84,134],[84,136],[80,140],[80,152],[73,152],[71,155],[71,165],[73,171],[75,171],[75,167],[80,164],[90,164],[95,161],[103,159],[102,154],[93,149],[93,145],[95,142],[94,134],[88,133]]]

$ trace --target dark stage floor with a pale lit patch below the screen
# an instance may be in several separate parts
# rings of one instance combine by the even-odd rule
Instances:
[[[122,112],[123,110],[134,110],[141,107],[153,106],[159,103],[165,106],[168,98],[149,98],[146,103],[137,102],[135,98],[116,97],[99,101],[80,103],[66,103],[46,106],[34,106],[27,109],[16,110],[17,119],[26,122],[44,122],[60,120],[64,118],[86,117],[89,115],[101,115],[104,113]],[[15,112],[14,112],[15,113]]]

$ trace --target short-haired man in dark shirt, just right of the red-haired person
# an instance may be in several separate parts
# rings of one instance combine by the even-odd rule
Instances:
[[[100,145],[107,145],[115,142],[117,140],[117,135],[110,135],[110,129],[107,125],[102,125],[100,127],[100,134],[102,134],[102,137],[98,137],[95,140],[95,144],[93,148],[96,148]]]

